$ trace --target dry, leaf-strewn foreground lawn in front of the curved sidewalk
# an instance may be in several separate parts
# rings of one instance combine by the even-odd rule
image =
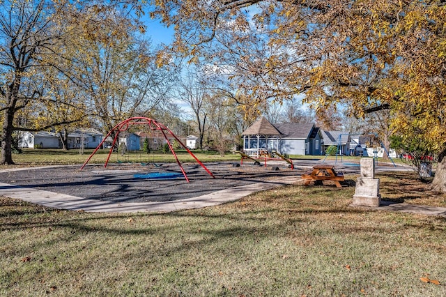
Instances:
[[[446,205],[412,174],[378,177],[383,197]],[[446,296],[445,218],[353,208],[353,192],[133,215],[0,197],[0,296]]]

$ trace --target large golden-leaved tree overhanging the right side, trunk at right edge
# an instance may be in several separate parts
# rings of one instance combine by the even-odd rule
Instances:
[[[323,114],[339,103],[363,116],[390,109],[438,152],[446,191],[446,7],[442,1],[162,1],[174,50],[212,63],[249,106],[305,94]],[[407,137],[410,137],[408,135]]]

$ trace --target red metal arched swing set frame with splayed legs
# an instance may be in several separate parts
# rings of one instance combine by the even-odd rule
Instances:
[[[181,146],[183,146],[183,148],[185,148],[187,153],[192,155],[192,158],[194,158],[199,163],[199,165],[201,165],[201,167],[203,167],[203,169],[205,169],[206,172],[208,172],[208,174],[210,176],[215,178],[215,176],[209,171],[209,169],[206,168],[206,166],[204,166],[200,160],[198,160],[198,158],[189,150],[189,148],[187,148],[187,146],[185,146],[183,144],[183,142],[181,142],[180,139],[178,139],[178,137],[176,137],[176,135],[174,135],[174,132],[172,132],[169,128],[167,128],[162,123],[158,123],[157,121],[155,121],[153,119],[146,118],[144,116],[134,116],[132,118],[126,119],[125,121],[122,121],[121,123],[118,123],[118,125],[115,125],[114,128],[104,137],[104,139],[102,139],[102,142],[98,145],[97,148],[95,148],[95,150],[93,151],[93,153],[91,153],[89,158],[84,162],[84,165],[82,165],[81,170],[84,169],[85,165],[89,162],[89,160],[93,157],[93,155],[98,151],[98,149],[102,146],[102,144],[104,144],[105,139],[107,139],[107,137],[112,135],[112,132],[115,131],[116,135],[114,136],[112,147],[110,148],[109,154],[107,156],[107,160],[105,161],[105,165],[104,165],[104,167],[107,167],[107,164],[110,159],[110,155],[112,155],[112,153],[113,153],[113,148],[115,147],[116,140],[118,140],[119,133],[127,131],[130,125],[148,125],[148,128],[150,128],[151,130],[160,130],[162,132],[162,135],[164,136],[164,139],[166,139],[167,145],[169,146],[169,149],[170,149],[172,155],[174,155],[174,158],[175,158],[177,164],[180,166],[181,172],[183,172],[183,176],[185,177],[187,183],[189,183],[189,178],[187,178],[187,174],[183,169],[183,165],[181,165],[180,160],[178,160],[178,157],[174,151],[174,148],[172,147],[172,145],[169,142],[169,139],[167,138],[166,131],[170,135],[172,135],[172,137],[174,137],[176,139],[178,144],[180,144]]]

